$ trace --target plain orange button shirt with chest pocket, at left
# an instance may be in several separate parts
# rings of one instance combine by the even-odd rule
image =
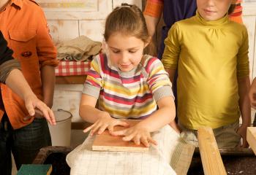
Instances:
[[[57,66],[56,47],[49,34],[44,12],[31,0],[11,0],[0,12],[0,31],[20,61],[24,77],[34,93],[42,99],[42,66]],[[1,83],[1,96],[12,128],[18,129],[33,121],[23,120],[27,112],[23,100]],[[4,111],[1,108],[0,120]]]

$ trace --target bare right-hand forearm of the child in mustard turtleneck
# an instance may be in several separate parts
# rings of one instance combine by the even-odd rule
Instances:
[[[246,129],[251,125],[251,108],[249,105],[249,77],[238,78],[239,109],[241,111],[242,125],[237,133],[243,138],[242,147],[248,147]]]

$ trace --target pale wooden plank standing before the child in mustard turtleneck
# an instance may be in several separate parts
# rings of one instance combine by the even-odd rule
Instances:
[[[204,174],[227,174],[212,129],[209,127],[198,128],[197,139]]]

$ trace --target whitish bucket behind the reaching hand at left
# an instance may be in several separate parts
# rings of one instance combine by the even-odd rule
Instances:
[[[72,114],[62,109],[53,113],[56,125],[49,124],[52,145],[70,147]]]

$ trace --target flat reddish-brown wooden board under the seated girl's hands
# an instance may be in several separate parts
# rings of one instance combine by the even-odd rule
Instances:
[[[135,125],[138,120],[128,120],[130,125]],[[122,126],[116,126],[114,131],[120,131],[125,129]],[[108,131],[104,131],[102,134],[97,135],[92,144],[92,150],[94,151],[115,151],[115,152],[148,152],[148,147],[143,144],[136,145],[134,141],[123,141],[122,136],[111,136]]]

